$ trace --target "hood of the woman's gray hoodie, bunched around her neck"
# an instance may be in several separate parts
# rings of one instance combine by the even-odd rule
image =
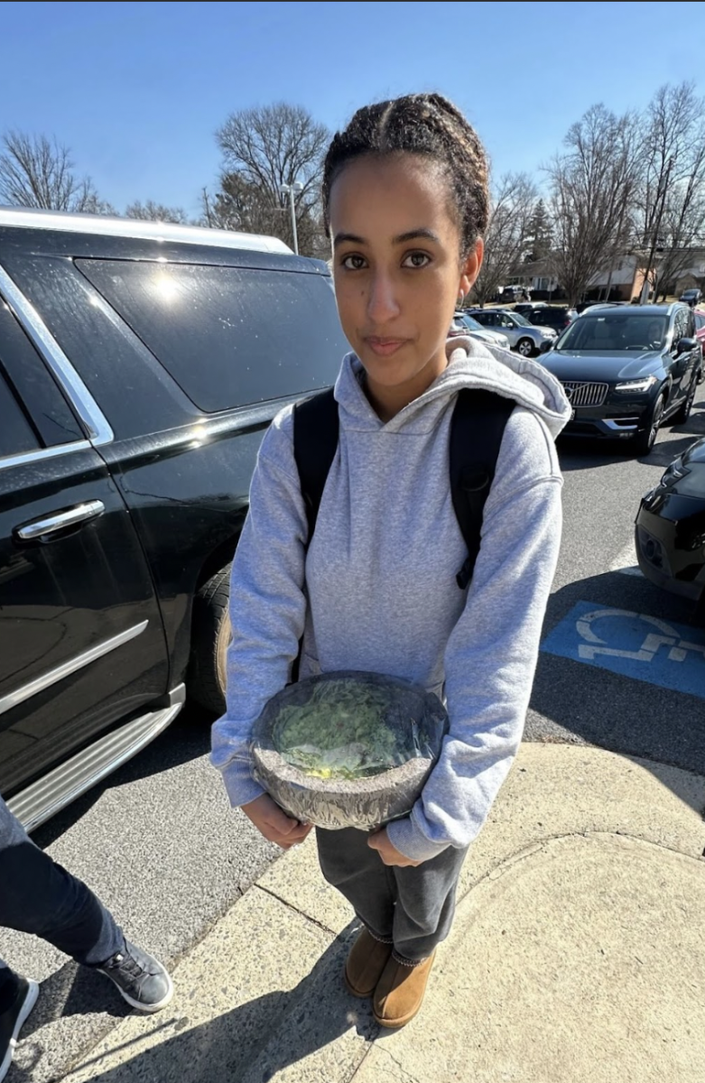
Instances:
[[[422,395],[387,422],[377,416],[362,388],[362,363],[354,353],[347,354],[335,390],[341,425],[357,431],[420,433],[433,427],[448,399],[462,388],[494,391],[513,399],[544,421],[553,440],[570,420],[571,405],[562,384],[537,362],[484,345],[470,337],[448,339],[446,352],[447,368]]]

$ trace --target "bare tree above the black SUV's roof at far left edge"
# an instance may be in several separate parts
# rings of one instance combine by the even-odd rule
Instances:
[[[42,210],[114,213],[90,177],[77,177],[68,147],[45,135],[11,131],[2,136],[0,203]]]

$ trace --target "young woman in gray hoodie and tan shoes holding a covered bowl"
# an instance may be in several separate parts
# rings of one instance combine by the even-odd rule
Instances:
[[[233,806],[288,847],[310,831],[250,773],[264,704],[290,679],[338,669],[405,678],[444,695],[451,728],[410,815],[369,835],[316,832],[321,867],[364,929],[345,966],[396,1028],[421,1006],[455,890],[521,740],[561,532],[553,440],[570,408],[538,364],[447,331],[471,289],[487,224],[478,135],[439,94],[360,109],[325,162],[338,311],[353,348],[336,383],[340,439],[306,551],[291,409],[265,435],[233,564],[227,714],[212,762]],[[448,432],[458,392],[515,402],[469,589]]]

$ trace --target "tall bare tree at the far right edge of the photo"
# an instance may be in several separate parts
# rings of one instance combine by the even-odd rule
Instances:
[[[652,285],[657,277],[664,291],[692,262],[690,249],[705,240],[705,100],[692,82],[656,91],[641,138],[637,240],[648,252]]]

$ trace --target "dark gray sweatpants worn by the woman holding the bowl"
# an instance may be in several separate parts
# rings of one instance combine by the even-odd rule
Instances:
[[[354,827],[316,827],[321,871],[353,906],[378,940],[389,940],[402,958],[419,962],[451,931],[455,892],[467,848],[448,847],[416,866],[386,865]]]

